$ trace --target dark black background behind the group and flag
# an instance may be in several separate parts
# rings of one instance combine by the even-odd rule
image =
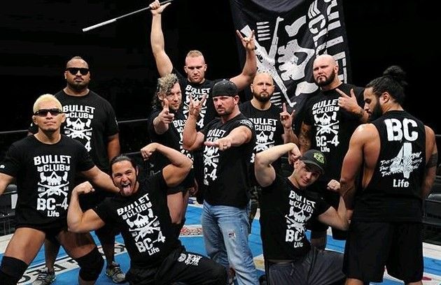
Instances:
[[[148,6],[149,1],[2,1],[0,12],[0,131],[27,129],[35,99],[65,85],[64,66],[80,55],[88,61],[90,89],[108,99],[118,121],[148,114],[158,73],[151,54],[147,10],[92,31],[82,29]],[[364,86],[398,64],[407,71],[405,108],[441,133],[437,116],[440,17],[426,1],[344,0],[352,82]],[[183,72],[188,50],[204,53],[207,78],[241,71],[227,0],[174,0],[162,19],[166,51]],[[8,102],[8,103],[6,103]],[[121,125],[123,152],[146,141],[144,122]],[[15,137],[24,136],[17,133]],[[2,148],[8,139],[0,134]],[[134,143],[136,142],[136,143]]]

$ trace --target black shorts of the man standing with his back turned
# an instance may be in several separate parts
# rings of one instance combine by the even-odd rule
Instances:
[[[363,282],[388,275],[409,282],[423,277],[422,224],[351,221],[344,248],[344,273]]]

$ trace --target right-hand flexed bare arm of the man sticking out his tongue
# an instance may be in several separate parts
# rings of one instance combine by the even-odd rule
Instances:
[[[170,164],[162,169],[162,175],[168,187],[177,186],[190,173],[193,161],[185,154],[157,142],[148,144],[141,149],[141,155],[144,159],[150,158],[153,152],[160,152],[170,161]]]

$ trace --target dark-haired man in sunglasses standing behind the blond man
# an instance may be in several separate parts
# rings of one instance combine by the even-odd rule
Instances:
[[[62,133],[83,143],[87,152],[99,169],[109,173],[109,161],[120,153],[120,140],[115,112],[111,104],[92,90],[90,90],[90,69],[87,62],[81,57],[72,57],[66,63],[64,71],[66,87],[55,94],[62,103],[66,122],[62,126]],[[29,128],[35,133],[35,126]],[[76,184],[84,182],[85,178],[76,177]],[[113,195],[97,187],[94,194],[83,198],[83,209],[90,209],[97,205],[106,196]],[[106,256],[106,275],[113,282],[124,282],[124,273],[120,265],[115,262],[115,230],[109,227],[100,228],[97,232]],[[55,279],[54,263],[59,251],[59,244],[55,240],[45,241],[45,265],[33,285],[47,285]]]

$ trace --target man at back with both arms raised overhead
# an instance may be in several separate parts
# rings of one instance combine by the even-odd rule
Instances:
[[[209,96],[211,93],[211,88],[219,80],[208,80],[205,78],[207,64],[205,64],[204,55],[199,50],[191,50],[186,56],[186,65],[184,66],[186,77],[181,75],[181,73],[174,68],[172,61],[165,52],[164,35],[162,33],[161,24],[162,11],[170,4],[171,3],[166,3],[165,5],[161,6],[158,0],[150,4],[151,13],[153,16],[150,38],[151,46],[153,56],[155,57],[156,61],[156,67],[158,68],[160,76],[164,76],[172,72],[178,75],[181,90],[183,92],[183,113],[187,117],[190,99],[193,99],[193,101],[202,101],[205,94]],[[246,61],[242,72],[239,75],[230,78],[230,81],[234,82],[240,91],[248,87],[248,85],[250,85],[253,81],[255,72],[257,70],[257,59],[254,52],[254,33],[249,35],[249,37],[244,38],[241,36],[239,31],[236,32],[246,50]],[[202,105],[200,119],[196,124],[198,131],[217,116],[216,110],[213,106],[213,101],[211,101],[211,98],[209,99],[210,100],[204,101]]]

